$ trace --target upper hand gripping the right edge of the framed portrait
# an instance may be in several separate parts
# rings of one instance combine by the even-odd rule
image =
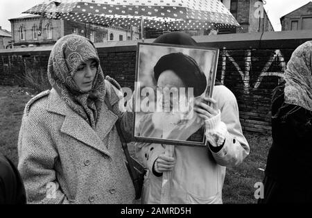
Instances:
[[[209,106],[209,103],[212,107]],[[217,102],[214,99],[200,97],[198,99],[195,99],[194,101],[194,111],[198,113],[198,117],[202,118],[203,121],[205,121],[218,115],[218,108],[216,106],[216,103]]]

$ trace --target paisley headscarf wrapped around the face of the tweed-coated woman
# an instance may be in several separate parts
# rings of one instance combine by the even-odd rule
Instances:
[[[87,60],[98,63],[92,90],[83,92],[73,81],[78,67]],[[60,98],[95,129],[105,98],[105,79],[94,44],[80,35],[66,35],[55,43],[49,58],[48,77]]]

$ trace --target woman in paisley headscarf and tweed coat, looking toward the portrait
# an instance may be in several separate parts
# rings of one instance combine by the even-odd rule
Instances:
[[[48,76],[52,89],[27,103],[19,132],[18,169],[28,203],[132,203],[135,190],[114,126],[120,119],[129,140],[132,114],[120,110],[94,44],[62,37]]]

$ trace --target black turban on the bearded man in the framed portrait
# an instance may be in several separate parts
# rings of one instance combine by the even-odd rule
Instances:
[[[198,97],[205,92],[207,78],[198,66],[196,60],[183,53],[170,53],[162,56],[154,67],[154,77],[158,78],[162,72],[172,70],[179,76],[187,87],[194,88],[194,96]]]

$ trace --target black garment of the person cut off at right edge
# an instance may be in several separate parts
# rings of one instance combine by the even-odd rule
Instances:
[[[284,83],[272,98],[272,139],[265,203],[312,201],[312,112],[284,102]]]

